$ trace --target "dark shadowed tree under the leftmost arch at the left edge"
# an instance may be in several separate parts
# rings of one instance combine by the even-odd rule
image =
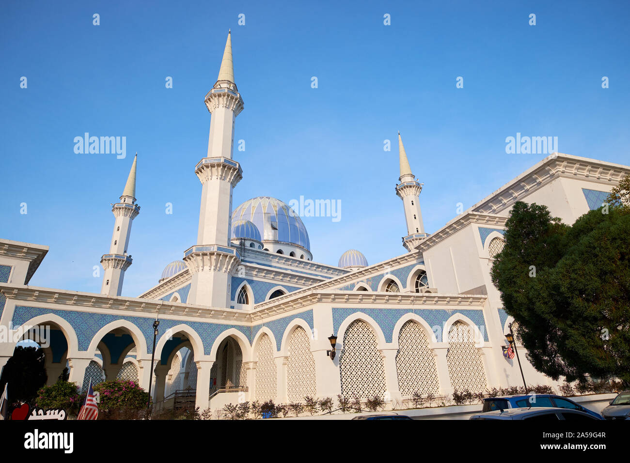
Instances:
[[[43,350],[39,347],[16,346],[0,378],[0,391],[9,383],[9,400],[12,403],[30,402],[37,390],[46,384],[46,367]],[[1,392],[0,392],[1,393]]]

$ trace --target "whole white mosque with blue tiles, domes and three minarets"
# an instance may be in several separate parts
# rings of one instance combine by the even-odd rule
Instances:
[[[28,285],[49,248],[0,239],[0,328],[14,334],[0,343],[0,367],[24,329],[48,326],[50,336],[40,342],[50,383],[66,365],[83,387],[118,377],[149,389],[152,377],[157,403],[188,394],[201,409],[337,394],[392,404],[415,392],[444,397],[455,389],[520,386],[516,359],[501,350],[511,319],[490,278],[510,208],[516,201],[544,204],[571,224],[630,173],[629,166],[554,153],[428,233],[423,183],[399,135],[396,195],[406,252],[370,265],[349,249],[337,266],[325,265],[316,262],[300,217],[281,200],[261,196],[232,207],[246,169],[233,158],[243,99],[231,35],[205,105],[212,117],[207,156],[195,166],[202,183],[197,242],[151,289],[120,296],[140,213],[137,157],[112,207],[101,294]],[[552,384],[520,358],[529,384]]]

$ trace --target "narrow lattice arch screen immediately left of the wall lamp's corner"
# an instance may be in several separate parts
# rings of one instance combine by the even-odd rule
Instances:
[[[294,402],[303,402],[305,396],[317,395],[315,359],[311,353],[311,340],[301,326],[294,329],[289,339],[287,392],[289,400]]]

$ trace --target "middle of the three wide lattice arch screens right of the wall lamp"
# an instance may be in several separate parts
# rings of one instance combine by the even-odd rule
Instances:
[[[396,373],[403,397],[411,397],[414,392],[435,395],[440,392],[437,365],[427,334],[415,321],[405,323],[398,335]]]

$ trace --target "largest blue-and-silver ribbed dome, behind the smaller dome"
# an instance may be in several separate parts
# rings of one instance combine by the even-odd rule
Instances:
[[[236,220],[252,222],[263,235],[263,241],[295,244],[311,251],[309,234],[302,219],[279,199],[251,198],[234,209],[232,222]]]

